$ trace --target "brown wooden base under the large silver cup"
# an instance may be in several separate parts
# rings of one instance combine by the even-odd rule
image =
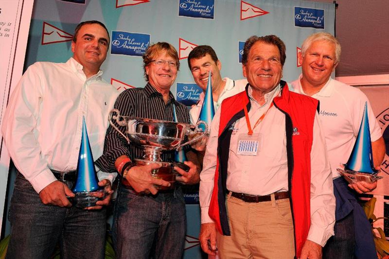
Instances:
[[[157,179],[162,179],[166,182],[170,183],[169,187],[160,186],[160,185],[154,185],[154,187],[157,190],[173,190],[176,183],[176,174],[173,173],[173,167],[171,163],[168,162],[157,162],[157,161],[149,161],[149,160],[143,160],[143,159],[135,159],[135,163],[137,165],[143,166],[143,165],[149,165],[153,163],[162,164],[162,167],[159,169],[154,169],[151,172],[151,176]]]

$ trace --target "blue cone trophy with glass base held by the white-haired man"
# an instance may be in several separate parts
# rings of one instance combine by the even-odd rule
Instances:
[[[343,169],[336,169],[349,183],[365,181],[372,183],[381,179],[379,170],[374,169],[373,154],[371,150],[370,127],[367,102],[363,111],[361,126],[356,137],[353,151]]]

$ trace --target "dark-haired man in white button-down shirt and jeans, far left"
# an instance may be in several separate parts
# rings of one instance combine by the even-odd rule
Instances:
[[[68,197],[85,118],[92,154],[103,153],[107,117],[117,90],[101,77],[109,35],[104,24],[77,26],[66,63],[36,62],[12,93],[2,136],[17,168],[9,220],[8,259],[50,258],[60,243],[62,258],[104,258],[106,209],[71,207]],[[115,173],[98,171],[110,192]]]

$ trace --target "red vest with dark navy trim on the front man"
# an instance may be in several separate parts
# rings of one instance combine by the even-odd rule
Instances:
[[[301,248],[307,239],[310,220],[311,148],[313,124],[318,108],[318,100],[289,92],[286,82],[281,81],[281,96],[273,99],[274,106],[285,114],[286,151],[288,160],[288,188],[291,193],[291,208],[295,231],[296,256],[300,257]],[[217,163],[209,215],[216,229],[230,236],[226,209],[227,168],[229,161],[230,126],[244,117],[242,99],[248,111],[251,104],[246,91],[231,96],[221,106]],[[277,231],[277,230],[275,230]]]

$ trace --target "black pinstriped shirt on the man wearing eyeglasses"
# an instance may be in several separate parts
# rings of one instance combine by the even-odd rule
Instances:
[[[156,119],[163,121],[174,121],[173,106],[176,105],[177,121],[190,123],[189,112],[184,104],[174,99],[172,92],[169,94],[167,104],[150,83],[144,88],[131,88],[123,91],[115,102],[115,108],[120,111],[121,116]],[[115,125],[124,133],[125,126]],[[134,144],[128,144],[127,140],[118,133],[111,125],[106,131],[104,152],[95,164],[105,172],[116,172],[115,160],[121,155],[128,155],[130,159],[139,158],[143,155],[142,149]],[[162,153],[163,161],[173,161],[174,150]]]

